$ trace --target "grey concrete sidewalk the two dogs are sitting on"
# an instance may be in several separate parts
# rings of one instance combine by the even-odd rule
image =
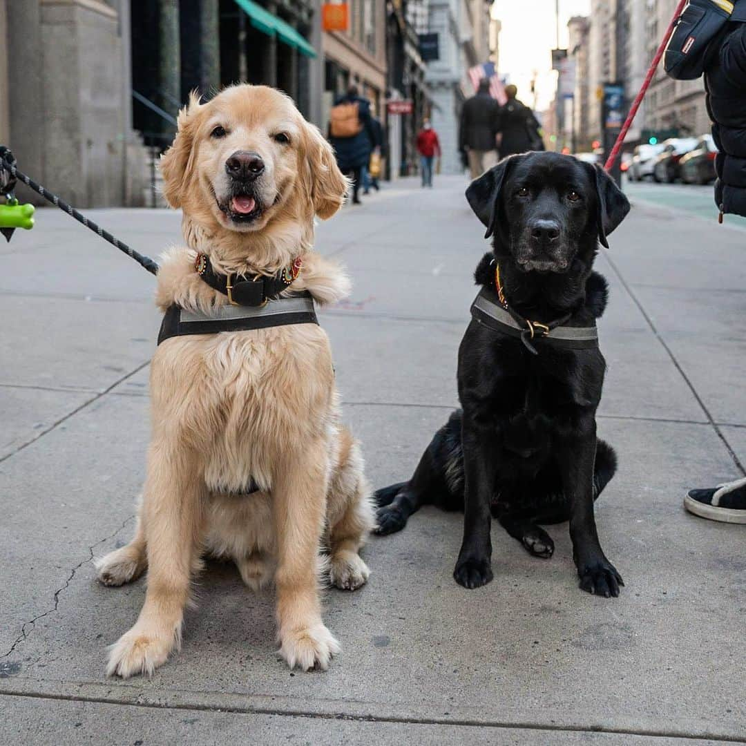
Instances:
[[[322,314],[345,419],[376,486],[410,476],[457,403],[456,353],[486,250],[460,178],[386,186],[319,227],[355,288]],[[93,211],[145,254],[163,210]],[[743,231],[638,201],[597,268],[609,363],[600,434],[620,468],[597,506],[620,598],[577,588],[566,525],[530,557],[495,525],[495,580],[451,577],[460,515],[423,510],[365,550],[369,584],[325,598],[342,654],[275,657],[272,594],[210,564],[181,653],[104,677],[144,582],[92,559],[131,536],[148,442],[153,279],[57,210],[0,245],[0,722],[8,744],[746,743],[746,527],[687,515],[746,463]],[[708,740],[709,739],[709,740]],[[689,741],[691,742],[691,741]]]

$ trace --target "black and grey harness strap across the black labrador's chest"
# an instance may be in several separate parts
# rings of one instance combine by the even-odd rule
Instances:
[[[519,337],[526,349],[534,354],[539,351],[532,342],[543,339],[554,345],[567,348],[598,347],[598,330],[595,325],[589,327],[562,326],[568,322],[571,314],[562,316],[549,324],[524,319],[510,308],[504,295],[491,288],[483,287],[474,303],[471,304],[471,317],[480,324],[508,336]]]

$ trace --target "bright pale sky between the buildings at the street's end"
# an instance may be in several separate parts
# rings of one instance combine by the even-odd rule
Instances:
[[[530,82],[536,70],[536,109],[545,110],[557,87],[551,69],[550,50],[557,44],[555,0],[495,0],[492,18],[502,22],[498,68],[518,86],[518,98],[533,107]],[[567,22],[571,16],[587,16],[590,0],[560,0],[560,48],[567,46]]]

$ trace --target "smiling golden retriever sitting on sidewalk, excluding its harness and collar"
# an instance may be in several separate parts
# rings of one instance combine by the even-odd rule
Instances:
[[[250,186],[229,162],[236,153],[254,158]],[[275,275],[301,257],[292,290],[319,304],[348,293],[339,267],[313,252],[314,217],[336,213],[348,184],[283,93],[239,85],[207,104],[192,95],[161,169],[188,248],[163,257],[160,309],[210,313],[228,303],[195,272],[197,252],[216,272],[240,275]],[[326,333],[303,324],[172,337],[154,354],[151,391],[137,530],[97,563],[106,585],[147,569],[148,586],[107,673],[151,674],[180,645],[206,554],[236,562],[252,590],[274,579],[281,656],[290,668],[327,668],[339,643],[322,621],[319,574],[338,588],[362,586],[369,571],[358,551],[374,520],[360,448],[339,422]],[[242,495],[251,480],[260,492]]]

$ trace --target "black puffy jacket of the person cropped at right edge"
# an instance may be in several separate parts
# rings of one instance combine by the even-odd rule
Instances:
[[[705,70],[705,88],[719,151],[715,204],[724,213],[746,216],[746,13],[742,3],[737,7],[739,21],[728,22],[718,54]]]

